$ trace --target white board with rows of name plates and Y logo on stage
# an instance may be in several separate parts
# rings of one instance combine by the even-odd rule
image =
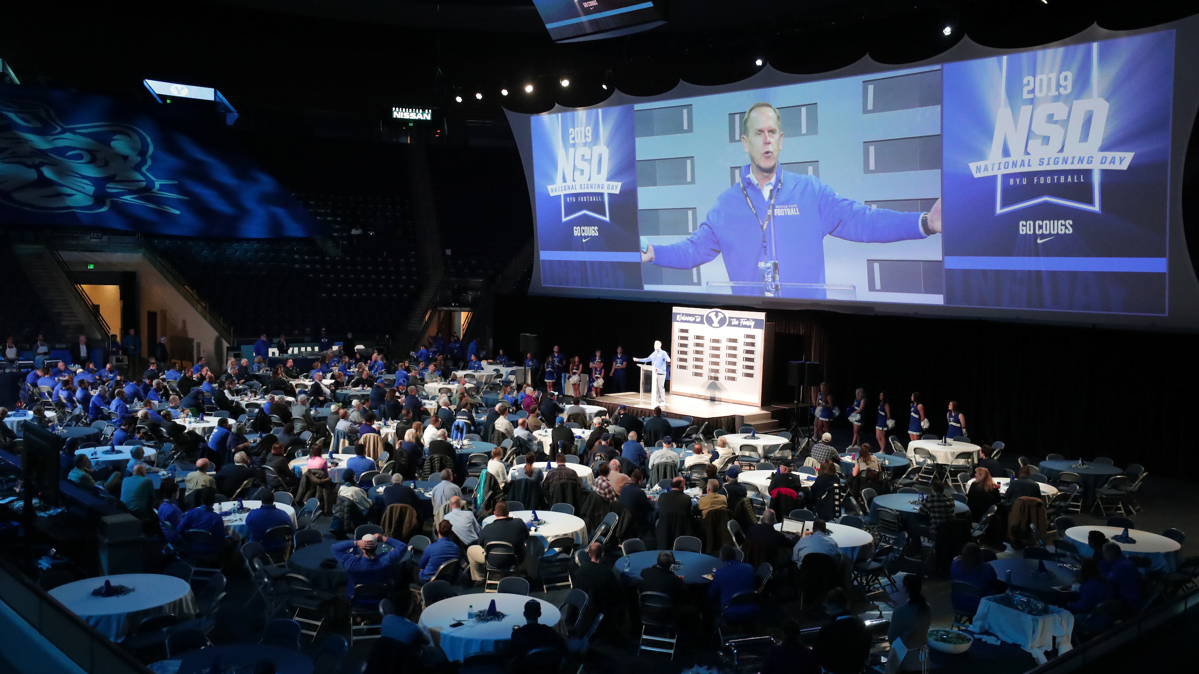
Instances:
[[[674,307],[670,392],[761,404],[766,314]]]

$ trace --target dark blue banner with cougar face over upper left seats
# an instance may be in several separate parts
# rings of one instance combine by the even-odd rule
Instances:
[[[325,234],[227,132],[176,106],[0,86],[0,223],[266,239]]]

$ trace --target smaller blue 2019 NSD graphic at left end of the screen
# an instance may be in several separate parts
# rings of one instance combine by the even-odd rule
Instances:
[[[544,285],[641,288],[633,107],[532,118]]]

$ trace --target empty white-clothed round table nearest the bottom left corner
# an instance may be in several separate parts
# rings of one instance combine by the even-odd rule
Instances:
[[[133,591],[119,597],[94,596],[91,591],[104,580],[133,588]],[[132,634],[139,622],[153,615],[174,613],[180,620],[195,615],[192,586],[181,578],[159,573],[86,578],[59,585],[50,590],[50,596],[114,642]]]

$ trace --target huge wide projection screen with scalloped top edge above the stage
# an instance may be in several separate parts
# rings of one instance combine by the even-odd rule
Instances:
[[[531,293],[1194,330],[1199,24],[508,113]]]

